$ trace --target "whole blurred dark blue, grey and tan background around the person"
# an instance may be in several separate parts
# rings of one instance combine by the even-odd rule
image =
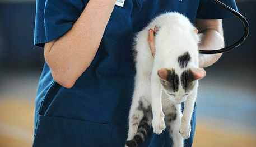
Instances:
[[[256,1],[237,1],[250,23],[243,45],[225,53],[200,81],[193,146],[256,146]],[[35,1],[0,0],[0,147],[31,146],[43,49],[32,45]],[[226,44],[243,24],[224,20]]]

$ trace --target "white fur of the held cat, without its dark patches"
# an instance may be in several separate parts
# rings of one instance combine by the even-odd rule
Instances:
[[[155,57],[153,57],[147,38],[148,30],[154,28],[155,25],[160,28],[155,37],[156,52]],[[174,68],[176,74],[180,77],[185,69],[179,67],[177,58],[185,52],[188,52],[191,56],[191,61],[186,69],[198,68],[199,37],[194,30],[195,28],[189,19],[182,14],[165,13],[153,19],[147,27],[137,34],[135,42],[135,50],[138,52],[136,57],[137,73],[129,115],[127,140],[131,140],[138,129],[138,126],[137,128],[132,126],[134,124],[132,116],[137,115],[140,119],[143,117],[141,112],[136,112],[141,96],[144,97],[143,101],[147,105],[152,106],[152,126],[155,133],[160,134],[166,125],[171,125],[173,131],[170,135],[173,138],[174,147],[183,146],[183,138],[189,138],[191,131],[190,120],[197,96],[198,83],[196,83],[189,96],[183,96],[184,90],[180,84],[179,91],[176,92],[177,96],[171,97],[163,92],[157,71],[162,68]],[[185,105],[182,115],[179,104],[183,101],[185,101]],[[177,119],[172,124],[165,124],[164,113],[166,114],[167,111],[171,111],[168,109],[170,105],[175,106]]]

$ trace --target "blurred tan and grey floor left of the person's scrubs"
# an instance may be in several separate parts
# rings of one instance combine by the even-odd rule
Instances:
[[[0,147],[32,146],[39,72],[1,72]]]

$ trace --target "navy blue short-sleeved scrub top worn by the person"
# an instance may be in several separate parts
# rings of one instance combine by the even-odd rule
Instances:
[[[235,1],[221,1],[236,9]],[[88,2],[37,1],[35,46],[44,47],[45,42],[66,33]],[[166,11],[182,13],[191,22],[196,17],[232,17],[208,0],[125,0],[124,7],[115,6],[94,60],[71,89],[55,82],[45,63],[35,100],[34,147],[124,146],[134,87],[133,37]],[[195,126],[193,114],[192,136],[185,140],[185,146],[192,146]],[[157,135],[151,130],[141,146],[171,144],[168,131]]]

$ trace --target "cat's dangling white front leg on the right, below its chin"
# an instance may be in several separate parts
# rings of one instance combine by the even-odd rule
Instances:
[[[180,134],[181,136],[186,139],[190,137],[191,132],[191,118],[194,111],[194,103],[197,97],[197,85],[193,90],[192,94],[190,94],[187,100],[184,102],[184,110],[183,116],[181,118],[181,126],[180,126]]]

